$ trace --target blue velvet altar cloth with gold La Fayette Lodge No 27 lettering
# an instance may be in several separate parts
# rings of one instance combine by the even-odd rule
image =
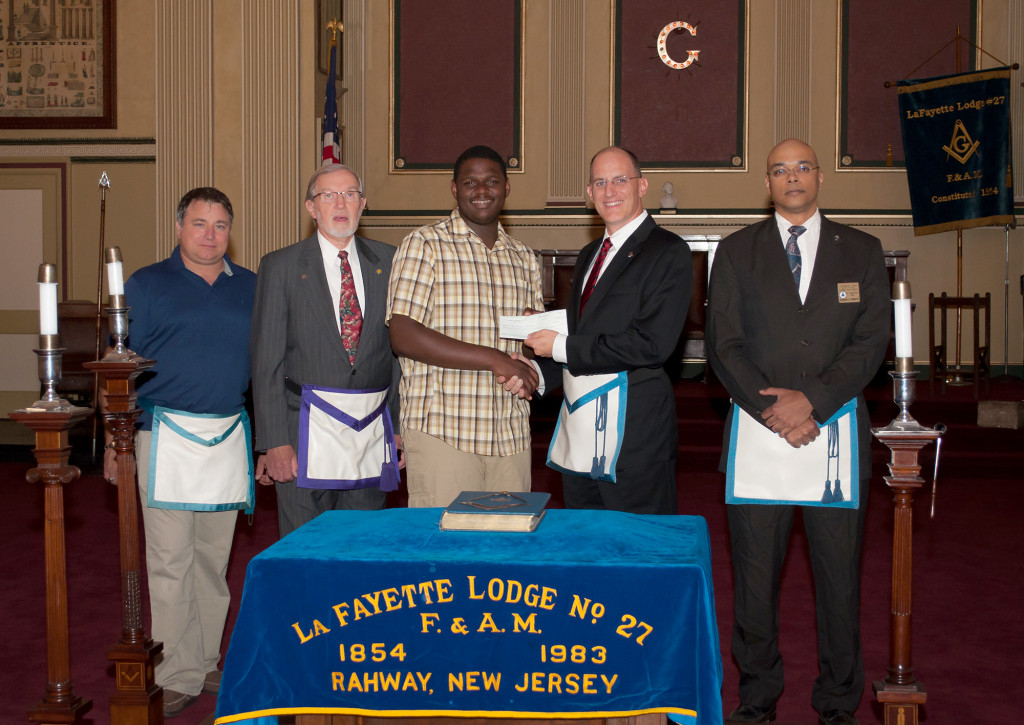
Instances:
[[[331,511],[249,563],[219,723],[278,715],[722,722],[710,541],[694,516]]]

